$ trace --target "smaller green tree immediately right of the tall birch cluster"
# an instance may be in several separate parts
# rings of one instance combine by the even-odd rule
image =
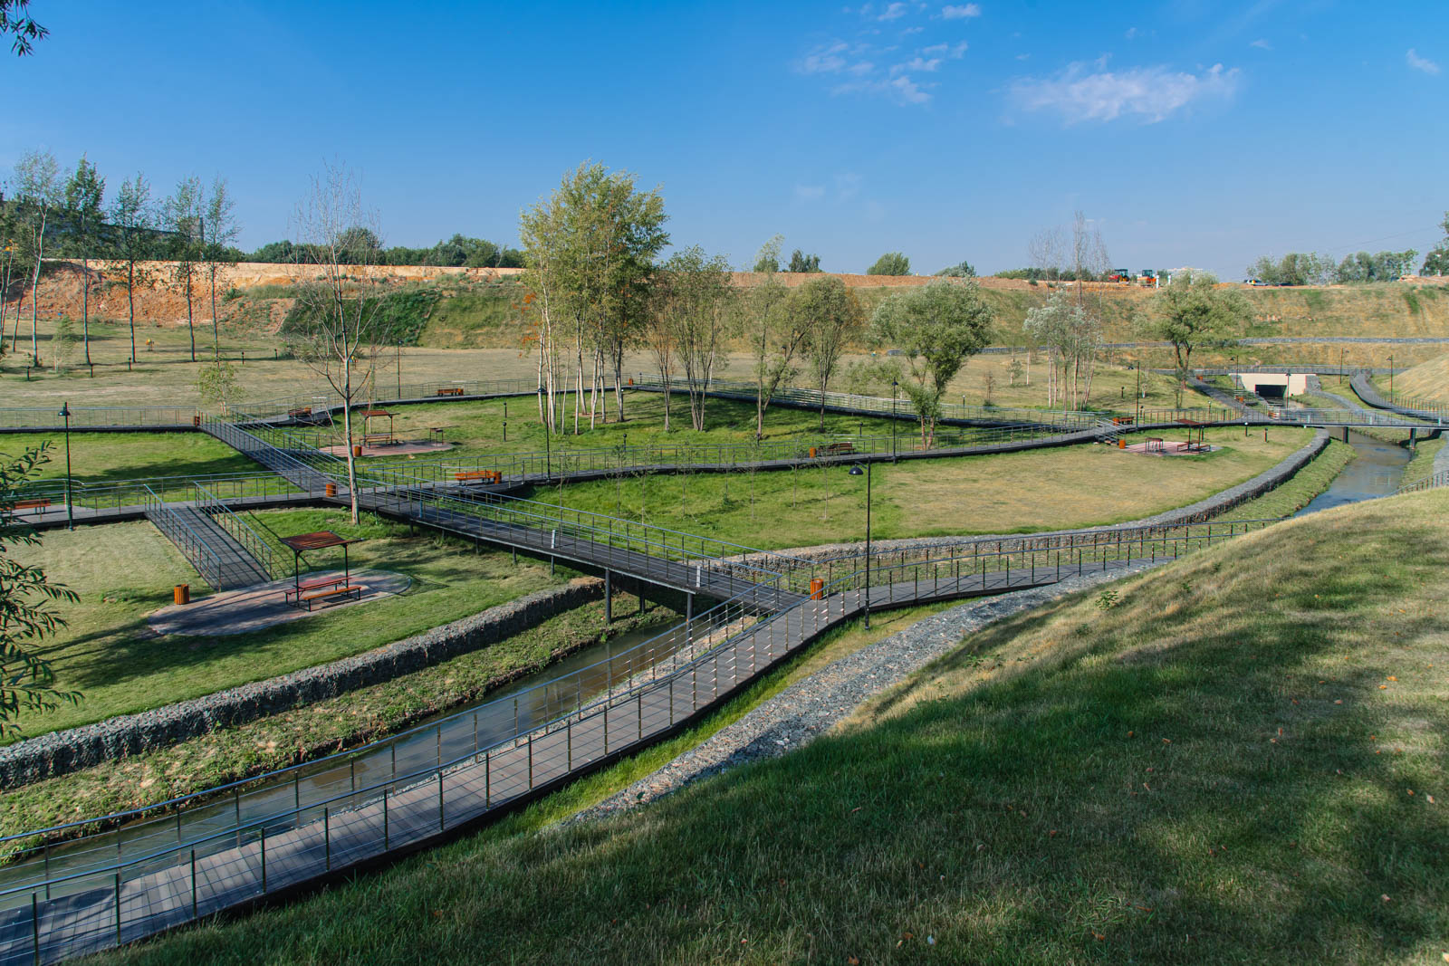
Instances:
[[[735,288],[729,262],[722,255],[709,258],[700,246],[691,245],[669,256],[655,285],[662,293],[658,300],[662,324],[684,368],[690,423],[703,432],[710,379],[732,329]]]

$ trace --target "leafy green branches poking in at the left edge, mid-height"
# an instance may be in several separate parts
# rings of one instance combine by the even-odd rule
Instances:
[[[80,597],[62,584],[54,584],[39,566],[26,566],[12,553],[17,546],[36,546],[35,529],[16,523],[14,504],[20,485],[46,462],[42,443],[20,456],[0,461],[0,737],[20,731],[22,711],[51,711],[62,701],[75,704],[80,694],[55,686],[49,662],[30,646],[54,634],[65,621],[52,610],[55,601],[75,602]]]

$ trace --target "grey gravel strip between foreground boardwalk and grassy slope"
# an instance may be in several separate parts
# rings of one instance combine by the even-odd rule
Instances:
[[[809,744],[868,698],[904,681],[936,658],[961,646],[962,637],[1004,617],[1040,607],[1065,594],[1161,566],[1142,562],[1111,572],[1084,574],[1052,587],[971,601],[920,620],[906,630],[846,655],[798,681],[739,721],[684,752],[659,770],[561,824],[591,821],[645,805],[672,791],[736,765]]]

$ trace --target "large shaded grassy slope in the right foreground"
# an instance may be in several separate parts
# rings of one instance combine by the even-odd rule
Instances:
[[[113,959],[1437,959],[1446,511],[1243,537],[990,627],[784,759]]]

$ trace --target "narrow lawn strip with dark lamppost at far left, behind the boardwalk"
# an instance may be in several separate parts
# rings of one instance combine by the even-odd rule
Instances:
[[[49,461],[35,478],[65,478],[61,433],[0,436],[0,453],[22,453],[49,443]],[[80,484],[106,485],[142,476],[264,474],[255,462],[206,433],[71,433],[71,472]]]

